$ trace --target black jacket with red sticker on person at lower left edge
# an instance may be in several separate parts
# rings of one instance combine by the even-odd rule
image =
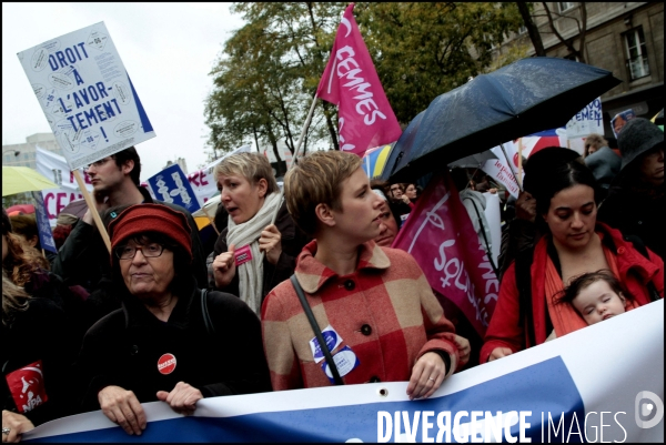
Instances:
[[[2,325],[1,351],[2,409],[23,414],[36,426],[72,413],[70,376],[77,345],[64,312],[56,303],[30,299],[28,309],[16,312],[9,327]],[[36,367],[41,367],[41,373]],[[8,375],[10,381],[21,383],[13,392],[18,401],[12,397]],[[32,409],[26,412],[23,406]]]

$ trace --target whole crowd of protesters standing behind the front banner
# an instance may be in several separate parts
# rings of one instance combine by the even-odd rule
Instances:
[[[636,118],[618,152],[587,142],[584,156],[527,160],[481,344],[391,247],[416,183],[370,181],[359,156],[330,151],[281,190],[265,156],[234,154],[214,170],[220,235],[205,246],[185,209],[140,186],[134,148],[92,163],[110,251],[91,210],[59,219],[47,259],[29,218],[3,209],[2,442],[95,409],[141,435],[147,402],[188,415],[205,397],[398,381],[425,398],[455,372],[662,299],[664,133]],[[451,174],[490,253],[483,192],[496,190]]]

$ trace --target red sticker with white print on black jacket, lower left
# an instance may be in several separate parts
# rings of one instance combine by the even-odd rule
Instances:
[[[4,376],[19,413],[28,413],[49,400],[41,360]]]

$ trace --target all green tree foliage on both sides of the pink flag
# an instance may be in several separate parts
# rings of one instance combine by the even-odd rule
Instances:
[[[242,143],[296,144],[349,3],[234,3],[246,24],[224,43],[205,101],[212,155]],[[515,3],[357,3],[354,14],[389,102],[408,123],[431,101],[488,70],[515,31]],[[509,59],[517,53],[509,54]],[[501,63],[501,62],[500,62]],[[336,110],[319,101],[305,146],[337,148]]]

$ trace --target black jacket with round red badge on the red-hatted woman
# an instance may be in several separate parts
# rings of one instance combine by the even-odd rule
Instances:
[[[260,321],[235,296],[208,292],[213,333],[206,331],[193,280],[167,323],[137,297],[122,300],[122,309],[95,323],[83,340],[74,365],[83,411],[99,409],[98,393],[109,385],[134,392],[141,403],[158,401],[158,391],[170,392],[181,381],[204,397],[271,391]],[[175,367],[163,374],[158,362],[168,354]]]

